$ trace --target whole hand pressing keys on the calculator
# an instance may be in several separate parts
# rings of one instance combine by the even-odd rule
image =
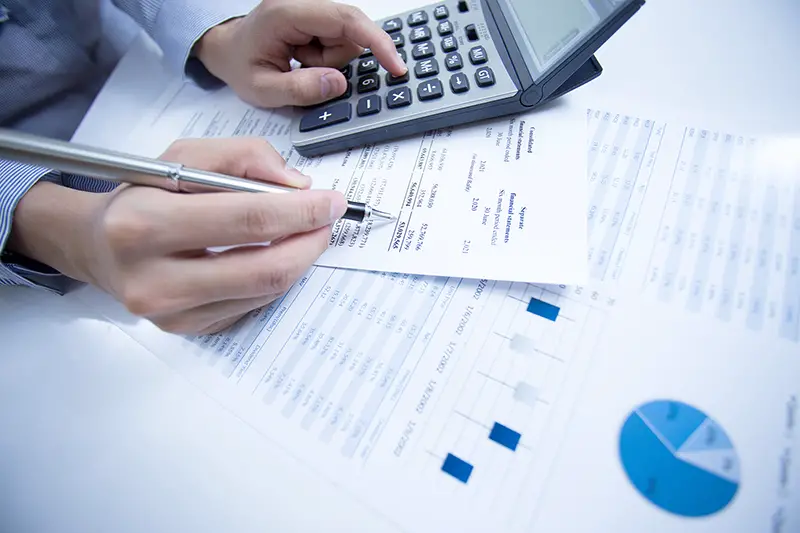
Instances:
[[[364,48],[395,76],[408,70],[391,37],[353,6],[262,0],[246,17],[206,32],[195,52],[244,101],[272,108],[340,96],[347,80],[339,69]],[[292,59],[309,68],[290,70]]]

